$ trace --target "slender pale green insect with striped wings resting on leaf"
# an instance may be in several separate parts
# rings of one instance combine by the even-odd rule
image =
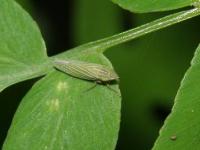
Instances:
[[[79,79],[94,81],[98,84],[109,85],[113,81],[119,82],[119,76],[113,69],[100,64],[77,60],[55,60],[54,66],[68,75]]]

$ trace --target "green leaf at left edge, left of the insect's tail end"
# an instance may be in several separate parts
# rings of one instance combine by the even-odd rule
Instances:
[[[49,68],[40,31],[13,0],[0,0],[0,91]]]

